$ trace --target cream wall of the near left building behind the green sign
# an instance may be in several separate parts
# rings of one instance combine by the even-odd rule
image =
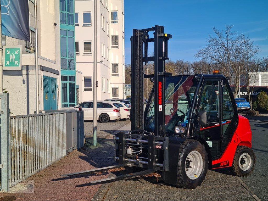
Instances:
[[[6,46],[22,45],[22,70],[3,70],[3,88],[9,92],[10,111],[13,115],[33,114],[35,102],[35,38],[34,4],[29,1],[31,43],[6,37]],[[59,54],[59,2],[57,0],[37,1],[38,53],[39,53],[39,109],[44,109],[43,76],[60,79]],[[29,45],[33,51],[29,49]],[[60,88],[57,88],[57,106],[60,105]],[[56,97],[55,97],[56,98]]]

